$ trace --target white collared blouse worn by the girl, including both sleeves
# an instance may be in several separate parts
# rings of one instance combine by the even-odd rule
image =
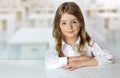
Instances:
[[[50,44],[49,50],[45,53],[46,67],[49,69],[60,68],[67,64],[67,57],[80,56],[77,52],[79,42],[80,37],[73,46],[62,41],[62,50],[65,57],[58,56],[58,52],[55,49],[55,44],[54,42],[51,42],[52,44]],[[113,58],[109,51],[101,49],[95,42],[92,47],[86,44],[83,50],[87,56],[94,57],[98,61],[98,65],[107,65],[113,62],[113,60],[109,60]]]

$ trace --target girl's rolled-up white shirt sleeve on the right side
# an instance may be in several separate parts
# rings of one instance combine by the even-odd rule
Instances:
[[[89,51],[91,52],[91,56],[98,61],[98,65],[107,65],[113,62],[113,56],[110,52],[100,48],[97,43],[93,43],[93,46]]]

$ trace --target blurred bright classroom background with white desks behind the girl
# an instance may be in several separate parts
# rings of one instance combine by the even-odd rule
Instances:
[[[66,1],[80,6],[89,35],[120,62],[120,0],[0,0],[0,60],[43,60]]]

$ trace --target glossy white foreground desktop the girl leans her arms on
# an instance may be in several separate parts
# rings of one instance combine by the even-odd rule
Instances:
[[[120,63],[79,68],[74,71],[45,69],[44,61],[0,61],[0,78],[118,78]]]

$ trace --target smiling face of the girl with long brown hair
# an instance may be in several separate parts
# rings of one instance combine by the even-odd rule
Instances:
[[[60,29],[65,38],[76,38],[80,31],[80,23],[74,15],[64,13],[60,20]]]

